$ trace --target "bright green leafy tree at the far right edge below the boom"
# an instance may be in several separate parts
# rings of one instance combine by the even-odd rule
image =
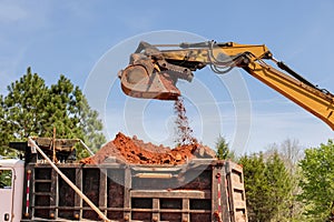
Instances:
[[[334,202],[334,143],[305,150],[299,161],[303,192],[299,200],[305,203],[305,214],[312,221],[325,221]]]

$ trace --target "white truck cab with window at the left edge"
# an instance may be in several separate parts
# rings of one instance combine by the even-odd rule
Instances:
[[[23,179],[24,161],[0,159],[0,221],[21,220]]]

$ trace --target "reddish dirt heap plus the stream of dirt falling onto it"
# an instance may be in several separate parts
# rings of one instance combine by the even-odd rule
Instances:
[[[177,148],[170,149],[164,145],[145,143],[137,137],[129,138],[118,133],[116,138],[104,145],[94,157],[81,160],[86,164],[100,164],[120,160],[131,164],[184,164],[194,158],[213,159],[215,151],[197,142],[193,137],[186,115],[184,99],[178,97],[174,104],[175,142]],[[108,160],[107,160],[108,159]],[[111,159],[111,160],[110,160]]]

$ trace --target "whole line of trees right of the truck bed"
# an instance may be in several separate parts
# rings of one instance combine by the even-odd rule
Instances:
[[[220,159],[243,165],[249,222],[334,221],[334,143],[303,149],[287,139],[265,152],[236,158],[224,138]]]

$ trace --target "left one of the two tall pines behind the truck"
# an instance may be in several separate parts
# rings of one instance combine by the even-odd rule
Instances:
[[[10,139],[21,140],[32,133],[40,134],[45,120],[45,81],[32,74],[30,68],[20,80],[8,85],[8,95],[3,98],[3,130]]]

